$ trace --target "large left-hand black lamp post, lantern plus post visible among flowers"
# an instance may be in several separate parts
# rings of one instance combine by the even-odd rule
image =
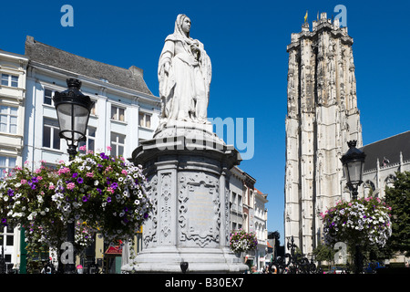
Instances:
[[[68,89],[56,92],[53,100],[56,106],[59,136],[67,141],[69,160],[76,157],[79,141],[86,141],[86,130],[90,110],[94,102],[81,91],[81,81],[75,78],[67,79]],[[74,245],[75,223],[67,224],[67,242]],[[74,257],[74,255],[73,255]],[[75,258],[75,257],[74,257]],[[74,274],[75,264],[66,265],[66,273]]]

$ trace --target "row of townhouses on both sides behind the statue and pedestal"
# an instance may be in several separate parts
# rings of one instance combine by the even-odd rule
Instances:
[[[110,146],[112,155],[129,158],[138,143],[152,138],[159,125],[160,99],[149,90],[142,69],[118,68],[80,57],[38,42],[33,36],[26,37],[25,48],[25,55],[0,50],[1,177],[15,166],[34,170],[40,161],[53,166],[68,160],[53,104],[55,92],[67,89],[67,78],[79,79],[82,92],[95,101],[87,127],[88,151],[105,151]],[[240,168],[233,170],[231,229],[258,235],[260,250],[249,258],[264,266],[267,194],[256,190],[255,183]],[[5,227],[0,238],[5,262],[18,267],[22,235]],[[105,248],[97,246],[98,259],[104,257]]]

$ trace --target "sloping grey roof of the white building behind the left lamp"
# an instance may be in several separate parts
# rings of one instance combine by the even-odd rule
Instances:
[[[89,78],[107,80],[110,84],[152,95],[144,81],[142,69],[135,66],[128,69],[119,68],[87,57],[80,57],[38,42],[33,36],[26,37],[26,56],[29,57],[30,62],[35,61],[55,68],[65,69]]]

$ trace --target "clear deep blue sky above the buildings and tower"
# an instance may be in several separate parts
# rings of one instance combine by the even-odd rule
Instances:
[[[63,27],[62,5],[74,8]],[[268,230],[283,238],[286,46],[308,11],[336,16],[347,9],[364,144],[410,130],[410,2],[403,1],[5,1],[0,48],[24,54],[26,36],[82,57],[144,70],[158,96],[157,66],[176,16],[192,21],[212,62],[210,118],[254,119],[254,155],[241,169],[268,193]],[[246,123],[245,123],[246,126]],[[246,136],[245,136],[246,137]],[[282,242],[283,244],[283,242]]]

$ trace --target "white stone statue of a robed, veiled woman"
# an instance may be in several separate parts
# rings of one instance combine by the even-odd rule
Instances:
[[[179,15],[159,57],[159,128],[171,120],[208,124],[210,57],[199,40],[190,37],[190,18]]]

